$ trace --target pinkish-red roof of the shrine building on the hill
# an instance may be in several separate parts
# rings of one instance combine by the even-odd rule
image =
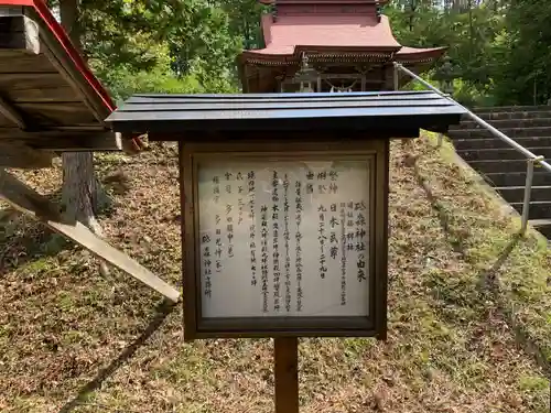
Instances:
[[[440,57],[445,51],[445,47],[403,47],[395,39],[389,19],[378,15],[376,1],[278,0],[276,4],[277,12],[262,15],[266,47],[245,51],[245,61],[257,64],[295,61],[302,52],[376,55],[379,52],[383,59],[422,63]]]

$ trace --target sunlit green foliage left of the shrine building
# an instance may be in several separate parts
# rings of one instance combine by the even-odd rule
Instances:
[[[68,4],[77,1],[50,2]],[[116,100],[136,91],[236,91],[235,58],[259,37],[253,0],[80,0],[76,14],[83,53]]]

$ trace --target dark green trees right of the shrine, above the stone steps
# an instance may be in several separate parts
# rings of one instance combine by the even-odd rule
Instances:
[[[397,0],[386,13],[402,44],[449,46],[463,104],[542,105],[551,97],[551,2]]]

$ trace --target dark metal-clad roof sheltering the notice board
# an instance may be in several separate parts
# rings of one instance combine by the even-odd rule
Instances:
[[[445,131],[464,112],[432,91],[136,95],[106,121],[117,132],[170,140],[183,131]]]

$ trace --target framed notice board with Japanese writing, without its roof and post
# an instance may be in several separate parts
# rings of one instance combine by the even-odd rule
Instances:
[[[381,333],[385,143],[255,146],[183,146],[186,339]]]

